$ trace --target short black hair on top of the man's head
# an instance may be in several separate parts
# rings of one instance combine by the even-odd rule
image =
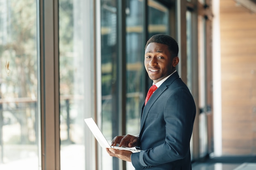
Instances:
[[[145,49],[147,48],[148,44],[151,42],[156,42],[160,44],[166,44],[168,46],[169,51],[171,52],[172,57],[178,56],[179,53],[179,46],[171,36],[164,35],[164,34],[156,34],[153,35],[147,42]]]

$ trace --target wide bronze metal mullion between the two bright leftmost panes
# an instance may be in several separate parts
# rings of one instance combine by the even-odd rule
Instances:
[[[42,170],[60,170],[58,0],[40,1]]]

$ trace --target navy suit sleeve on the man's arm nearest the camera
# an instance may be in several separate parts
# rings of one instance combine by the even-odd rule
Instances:
[[[161,114],[165,122],[165,141],[148,150],[133,153],[131,160],[136,170],[183,159],[189,153],[195,119],[193,97],[187,88],[178,88],[167,97],[163,106]]]

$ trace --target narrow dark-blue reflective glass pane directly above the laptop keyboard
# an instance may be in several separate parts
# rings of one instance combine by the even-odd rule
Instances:
[[[111,144],[118,132],[117,117],[117,8],[116,2],[101,0],[101,93],[102,132]],[[115,115],[115,116],[114,116]],[[115,131],[114,131],[115,130]],[[101,150],[102,170],[116,169],[118,159]],[[113,160],[114,166],[113,166]]]

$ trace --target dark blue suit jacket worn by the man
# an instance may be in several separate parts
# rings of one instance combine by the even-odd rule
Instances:
[[[186,84],[173,73],[141,110],[140,146],[132,153],[136,170],[191,170],[190,139],[195,102]]]

